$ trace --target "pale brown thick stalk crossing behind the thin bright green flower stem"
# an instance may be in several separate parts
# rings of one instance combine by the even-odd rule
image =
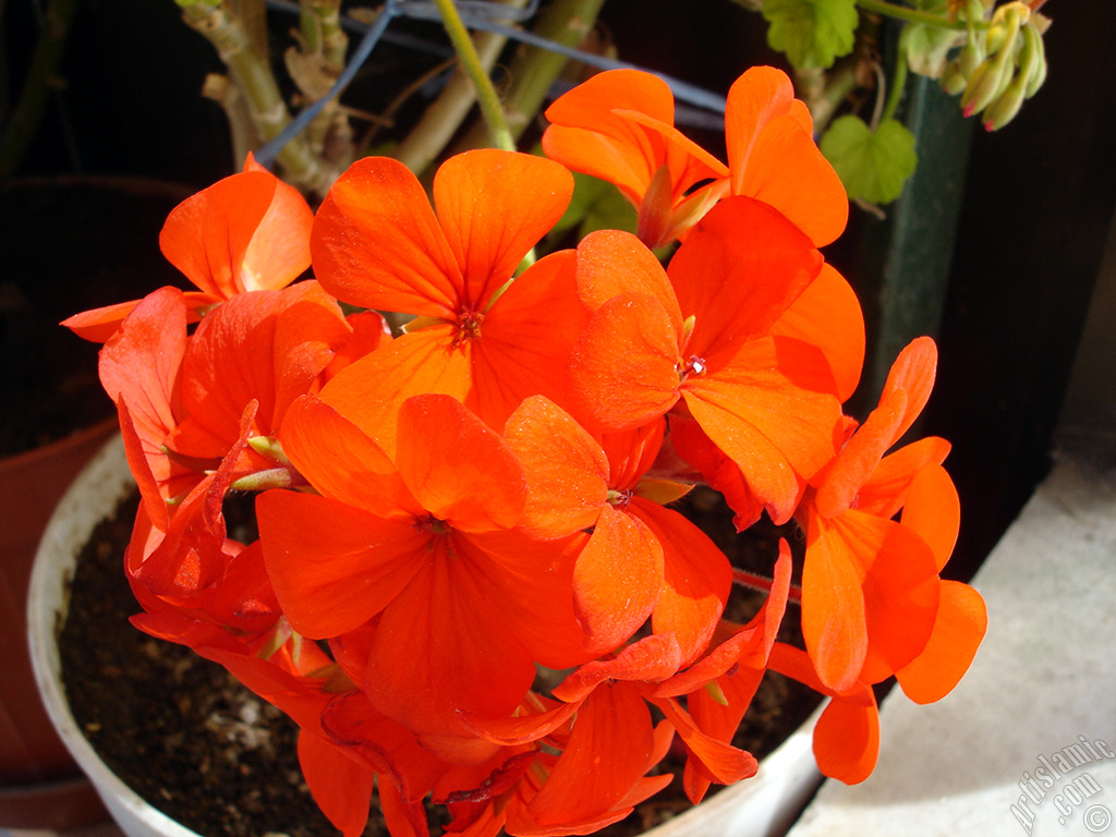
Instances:
[[[526,0],[507,0],[504,6],[521,9],[526,6]],[[507,37],[494,32],[478,32],[473,36],[473,44],[485,76],[492,70],[507,42]],[[419,124],[407,133],[400,147],[395,150],[395,158],[411,171],[421,174],[442,153],[475,102],[477,89],[459,65],[445,89],[426,108]],[[484,144],[484,141],[482,140],[480,144]]]

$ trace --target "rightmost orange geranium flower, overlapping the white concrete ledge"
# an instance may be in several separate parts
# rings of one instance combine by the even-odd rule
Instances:
[[[956,492],[941,469],[949,443],[925,439],[884,456],[922,412],[936,359],[929,337],[899,354],[879,406],[817,475],[800,511],[802,633],[818,676],[837,692],[906,668],[912,693],[936,700],[984,633],[979,594],[939,577],[959,523]]]

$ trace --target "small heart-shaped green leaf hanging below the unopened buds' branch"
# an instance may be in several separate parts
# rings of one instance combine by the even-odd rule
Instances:
[[[891,203],[914,174],[918,156],[914,134],[895,119],[885,119],[873,132],[858,116],[841,116],[821,137],[828,160],[853,200]]]

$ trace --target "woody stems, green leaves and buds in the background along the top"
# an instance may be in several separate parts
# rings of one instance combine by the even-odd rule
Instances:
[[[793,70],[822,152],[850,199],[868,209],[894,201],[916,165],[915,138],[896,118],[908,71],[937,79],[959,97],[966,116],[980,114],[990,131],[1009,123],[1046,78],[1042,35],[1049,19],[1038,11],[1046,0],[722,1],[762,15],[767,42]],[[61,86],[59,65],[80,2],[31,3],[39,38],[13,108],[0,110],[0,179],[17,171]],[[696,21],[713,4],[694,3],[690,15]],[[450,152],[497,144],[473,108],[470,73],[474,80],[494,74],[499,102],[482,97],[482,114],[489,123],[502,117],[510,141],[520,141],[561,92],[569,59],[580,62],[576,73],[631,66],[616,59],[597,27],[604,6],[605,0],[552,0],[541,8],[538,0],[387,0],[376,7],[343,0],[177,0],[182,19],[221,61],[220,70],[206,73],[201,94],[227,117],[230,169],[253,151],[310,195],[323,194],[353,160],[373,151],[422,172]],[[456,26],[472,35],[448,44],[430,26],[440,20],[451,32]],[[885,25],[897,44],[886,69]],[[359,92],[343,97],[355,80]],[[720,93],[670,81],[683,103],[682,124],[715,126],[723,110]]]

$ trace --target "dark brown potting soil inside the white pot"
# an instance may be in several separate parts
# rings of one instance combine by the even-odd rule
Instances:
[[[62,679],[78,727],[140,796],[204,837],[337,837],[302,780],[295,724],[221,666],[128,623],[137,605],[122,565],[136,503],[134,498],[126,501],[113,520],[97,528],[71,584],[60,648]],[[778,529],[759,525],[748,537],[735,536],[723,502],[712,492],[699,490],[686,507],[687,516],[735,564],[770,574]],[[227,516],[233,513],[230,506]],[[229,522],[233,533],[237,523]],[[787,537],[792,539],[793,533]],[[739,604],[730,600],[730,606],[737,609],[727,615],[744,622],[763,595],[737,589],[733,599]],[[792,635],[783,638],[800,642]],[[816,693],[769,673],[733,743],[762,758],[817,703]],[[681,773],[684,761],[676,745],[660,770]],[[716,789],[713,786],[711,792]],[[675,780],[626,820],[598,834],[636,835],[690,807],[681,781]],[[435,809],[430,816],[436,834],[444,814]],[[386,835],[375,799],[365,835]]]

